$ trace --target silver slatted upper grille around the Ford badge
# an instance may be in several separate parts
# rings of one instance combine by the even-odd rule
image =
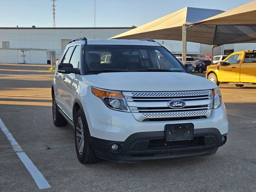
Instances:
[[[123,92],[130,110],[138,121],[153,118],[209,118],[212,112],[212,90],[180,92]],[[168,107],[172,100],[186,102],[184,108]]]

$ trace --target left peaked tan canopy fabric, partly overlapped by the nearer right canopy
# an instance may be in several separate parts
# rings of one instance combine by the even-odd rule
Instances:
[[[182,40],[182,25],[193,24],[224,11],[186,7],[172,14],[144,24],[138,28],[114,36],[114,39],[165,39]],[[197,26],[191,28],[187,41],[211,44],[214,39],[215,26]]]

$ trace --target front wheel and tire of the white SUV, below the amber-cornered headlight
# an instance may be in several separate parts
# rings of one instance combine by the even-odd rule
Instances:
[[[83,164],[96,163],[99,158],[95,150],[91,146],[88,133],[88,124],[86,118],[82,114],[81,109],[76,113],[75,124],[75,144],[76,155],[78,160]]]

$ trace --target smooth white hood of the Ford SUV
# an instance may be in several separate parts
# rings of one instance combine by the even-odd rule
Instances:
[[[188,91],[218,87],[214,82],[182,72],[108,72],[84,75],[91,86],[120,91]]]

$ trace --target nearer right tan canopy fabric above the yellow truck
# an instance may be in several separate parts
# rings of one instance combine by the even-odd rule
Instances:
[[[256,42],[256,1],[192,24],[215,28],[212,45]],[[189,33],[189,30],[188,30]],[[210,43],[207,43],[210,44]]]

